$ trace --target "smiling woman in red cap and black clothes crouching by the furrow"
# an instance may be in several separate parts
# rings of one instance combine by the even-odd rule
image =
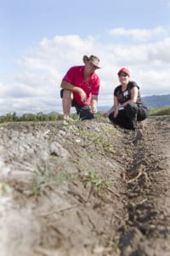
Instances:
[[[146,119],[148,108],[139,94],[139,85],[129,81],[130,73],[122,67],[117,73],[120,85],[114,90],[114,106],[106,113],[111,122],[128,130],[137,128],[137,121]]]

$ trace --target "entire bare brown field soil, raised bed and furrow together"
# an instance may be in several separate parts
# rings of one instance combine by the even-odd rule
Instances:
[[[1,256],[170,255],[170,117],[0,125]]]

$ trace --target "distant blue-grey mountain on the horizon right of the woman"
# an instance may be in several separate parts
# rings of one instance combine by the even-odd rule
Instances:
[[[170,94],[143,96],[142,101],[149,108],[163,108],[166,106],[170,106]]]

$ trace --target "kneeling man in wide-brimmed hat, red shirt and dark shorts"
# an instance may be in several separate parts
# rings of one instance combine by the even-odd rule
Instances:
[[[64,120],[69,120],[71,107],[77,109],[81,120],[94,119],[97,113],[100,80],[95,70],[99,67],[99,58],[83,56],[84,66],[71,67],[62,79],[60,87]]]

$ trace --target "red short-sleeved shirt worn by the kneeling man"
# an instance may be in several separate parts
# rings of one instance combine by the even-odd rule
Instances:
[[[83,79],[84,67],[85,66],[71,67],[65,74],[63,81],[82,88],[82,90],[84,90],[84,92],[86,93],[87,101],[82,102],[80,95],[77,92],[73,91],[74,99],[77,102],[77,104],[90,105],[91,96],[99,95],[100,80],[99,80],[99,76],[96,73],[92,73],[88,81],[84,82],[84,79]]]

